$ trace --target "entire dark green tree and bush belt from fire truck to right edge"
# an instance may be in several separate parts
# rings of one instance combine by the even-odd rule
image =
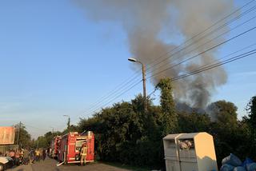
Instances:
[[[96,134],[98,159],[164,169],[162,137],[193,132],[214,136],[218,165],[230,153],[242,160],[255,157],[255,113],[238,121],[237,107],[229,101],[216,101],[205,113],[196,109],[179,112],[174,109],[170,80],[163,80],[157,87],[162,91],[161,105],[152,105],[147,99],[147,113],[143,111],[144,99],[138,95],[130,102],[114,104],[79,122],[80,131],[92,130]],[[250,101],[250,111],[255,111],[254,99]]]

